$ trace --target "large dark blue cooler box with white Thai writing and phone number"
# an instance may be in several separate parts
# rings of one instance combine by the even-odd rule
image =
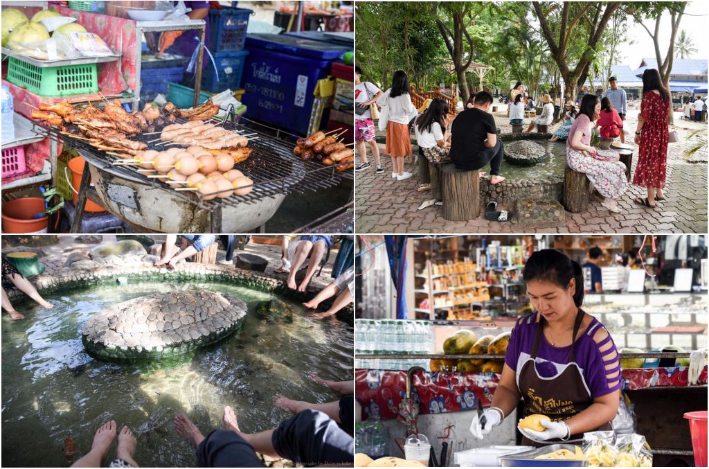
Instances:
[[[348,49],[277,34],[247,35],[246,49],[242,102],[247,117],[305,135],[316,84]]]

